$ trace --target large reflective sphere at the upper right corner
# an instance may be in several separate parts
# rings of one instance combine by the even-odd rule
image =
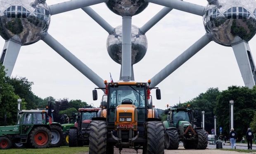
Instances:
[[[219,7],[207,5],[204,26],[213,34],[213,41],[231,46],[240,41],[249,41],[256,33],[255,0],[218,0]]]

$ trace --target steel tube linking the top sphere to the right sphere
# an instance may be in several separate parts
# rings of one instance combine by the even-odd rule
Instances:
[[[204,15],[204,6],[193,4],[190,2],[184,2],[181,0],[146,0],[158,5],[163,5],[165,7],[170,7],[173,9],[178,9],[180,11],[185,11],[188,13],[196,14],[199,16]]]

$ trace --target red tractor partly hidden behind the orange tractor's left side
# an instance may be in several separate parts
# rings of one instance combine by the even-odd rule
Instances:
[[[75,126],[69,130],[69,147],[89,145],[90,122],[101,108],[79,108]]]

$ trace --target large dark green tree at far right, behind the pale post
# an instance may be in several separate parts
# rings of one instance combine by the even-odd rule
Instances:
[[[229,134],[230,131],[230,103],[234,100],[234,129],[237,132],[238,139],[247,131],[256,108],[256,95],[248,87],[231,86],[224,90],[217,97],[217,106],[214,113],[217,116],[218,126],[223,127],[223,133]]]

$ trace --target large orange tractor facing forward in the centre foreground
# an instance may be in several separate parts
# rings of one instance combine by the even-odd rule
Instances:
[[[90,154],[113,154],[114,146],[121,152],[124,147],[143,147],[143,154],[164,154],[164,125],[152,106],[150,90],[156,89],[156,99],[161,99],[158,88],[149,88],[148,83],[134,81],[107,83],[102,89],[99,117],[90,123]]]

